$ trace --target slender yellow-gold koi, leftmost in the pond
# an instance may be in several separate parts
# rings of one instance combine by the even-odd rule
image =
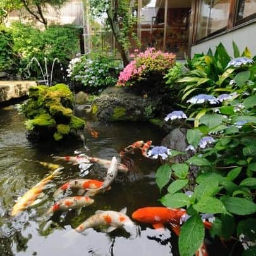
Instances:
[[[27,209],[27,207],[31,206],[37,197],[39,197],[40,193],[42,193],[47,183],[49,183],[55,176],[57,176],[62,169],[63,167],[56,169],[52,174],[41,180],[39,183],[37,183],[37,185],[33,186],[33,188],[28,190],[28,192],[19,198],[11,210],[11,216],[16,216],[23,210]]]

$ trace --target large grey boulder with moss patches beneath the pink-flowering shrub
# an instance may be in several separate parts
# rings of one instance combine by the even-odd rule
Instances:
[[[105,121],[146,121],[155,116],[161,96],[144,97],[126,88],[110,87],[95,99],[92,113]]]

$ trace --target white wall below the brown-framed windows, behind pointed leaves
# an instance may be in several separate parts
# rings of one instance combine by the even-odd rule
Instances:
[[[215,37],[214,39],[207,40],[196,46],[192,46],[192,57],[195,53],[207,53],[209,47],[214,52],[216,46],[222,42],[229,55],[233,57],[233,46],[232,41],[238,46],[240,52],[243,52],[247,46],[252,52],[252,56],[256,55],[256,23],[250,24],[246,27],[238,28],[224,35]]]

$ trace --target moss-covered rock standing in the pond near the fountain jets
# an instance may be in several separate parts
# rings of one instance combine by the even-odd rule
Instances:
[[[28,130],[38,131],[56,141],[80,131],[85,121],[73,116],[73,95],[67,85],[59,83],[53,87],[39,85],[29,89],[29,99],[21,105],[21,112],[28,118]]]

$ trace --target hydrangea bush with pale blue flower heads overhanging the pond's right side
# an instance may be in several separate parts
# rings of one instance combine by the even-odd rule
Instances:
[[[190,95],[186,113],[173,111],[165,118],[168,122],[186,119],[191,126],[186,132],[186,150],[193,156],[177,164],[174,155],[166,154],[162,157],[166,163],[156,173],[160,190],[168,185],[161,203],[185,207],[190,219],[181,227],[181,255],[193,255],[202,245],[202,218],[211,219],[212,238],[217,236],[223,243],[233,240],[243,256],[256,253],[256,64],[248,50],[247,54],[246,58],[226,59],[226,68],[218,75],[219,80],[224,76],[235,80],[235,86],[219,90],[216,81],[207,94]],[[226,72],[231,67],[234,70]],[[197,87],[193,85],[190,88]],[[228,92],[222,94],[224,90]],[[162,151],[156,151],[152,150],[161,156]],[[196,174],[190,172],[192,166]],[[191,225],[198,232],[191,232]]]

